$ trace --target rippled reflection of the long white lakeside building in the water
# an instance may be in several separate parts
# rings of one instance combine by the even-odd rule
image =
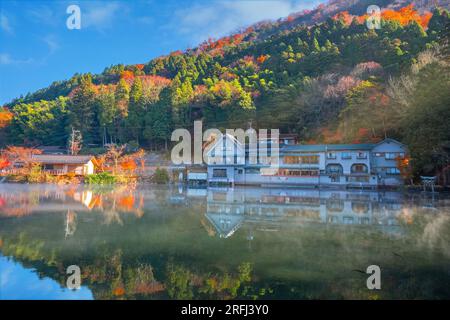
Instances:
[[[236,230],[276,231],[304,224],[370,225],[401,233],[397,217],[403,201],[398,193],[242,189],[206,191],[206,217],[223,238]]]

